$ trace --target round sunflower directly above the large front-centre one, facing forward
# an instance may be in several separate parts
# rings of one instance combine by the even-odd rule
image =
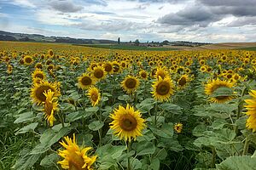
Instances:
[[[127,76],[125,80],[121,82],[121,87],[127,92],[127,94],[132,94],[140,85],[137,77]]]

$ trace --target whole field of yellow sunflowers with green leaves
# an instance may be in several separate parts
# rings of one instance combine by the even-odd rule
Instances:
[[[0,42],[0,169],[256,169],[256,53]]]

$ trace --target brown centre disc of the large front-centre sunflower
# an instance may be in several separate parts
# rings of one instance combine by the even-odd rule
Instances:
[[[130,114],[125,114],[121,117],[120,127],[125,131],[132,131],[137,127],[137,120]]]

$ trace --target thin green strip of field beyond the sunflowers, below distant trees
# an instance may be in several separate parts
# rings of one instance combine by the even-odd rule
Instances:
[[[76,46],[90,47],[90,48],[109,48],[109,49],[124,49],[124,50],[146,50],[146,51],[170,51],[176,50],[175,48],[151,48],[151,47],[142,47],[142,46],[131,46],[131,45],[118,45],[118,44],[93,44],[93,45],[84,45],[84,44],[73,44]]]

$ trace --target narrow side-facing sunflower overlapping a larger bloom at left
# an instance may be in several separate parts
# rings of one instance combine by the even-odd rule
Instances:
[[[58,100],[54,97],[54,92],[50,89],[47,92],[44,92],[45,101],[43,102],[44,105],[44,118],[49,122],[49,126],[53,126],[55,122],[55,111],[58,111]]]

